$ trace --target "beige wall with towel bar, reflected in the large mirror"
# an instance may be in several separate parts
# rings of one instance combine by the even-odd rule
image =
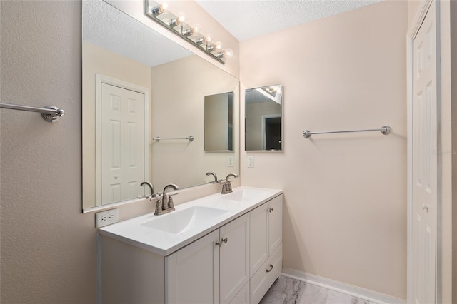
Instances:
[[[238,153],[204,151],[204,98],[233,91],[234,112],[239,112],[239,81],[198,56],[188,56],[151,69],[152,137],[194,136],[194,141],[159,141],[151,144],[151,180],[160,190],[166,183],[178,186],[211,181],[206,172],[219,178],[239,173]],[[181,72],[184,71],[184,72]],[[238,151],[239,119],[233,121],[234,150]],[[227,166],[233,156],[234,167]],[[185,170],[184,170],[185,169]],[[179,175],[176,176],[176,170]]]

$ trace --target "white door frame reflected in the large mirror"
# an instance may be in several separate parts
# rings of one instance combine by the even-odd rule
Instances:
[[[95,132],[97,135],[101,133],[101,84],[109,84],[110,86],[117,86],[129,91],[135,91],[144,94],[144,176],[145,180],[149,180],[149,88],[137,86],[134,83],[121,81],[119,79],[109,77],[102,74],[95,74]],[[96,179],[96,206],[101,205],[101,141],[96,139],[95,142],[95,179]]]

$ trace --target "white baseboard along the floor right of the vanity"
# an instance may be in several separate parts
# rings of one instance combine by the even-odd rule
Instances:
[[[309,284],[318,285],[330,290],[335,290],[340,293],[346,293],[346,295],[352,295],[354,297],[361,298],[363,300],[368,300],[370,302],[377,304],[406,304],[406,300],[395,298],[391,295],[378,293],[377,291],[346,284],[343,282],[339,282],[337,280],[323,278],[318,275],[313,275],[311,273],[303,273],[302,271],[298,271],[291,268],[283,268],[282,275],[288,278],[301,280]]]

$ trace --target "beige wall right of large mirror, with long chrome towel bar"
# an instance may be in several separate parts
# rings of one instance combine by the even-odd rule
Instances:
[[[241,153],[243,185],[283,188],[283,266],[403,299],[407,14],[386,1],[240,44],[243,86],[285,91],[284,153]]]

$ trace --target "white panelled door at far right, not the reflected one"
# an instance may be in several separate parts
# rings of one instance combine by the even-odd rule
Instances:
[[[411,303],[436,303],[436,3],[413,39]]]

